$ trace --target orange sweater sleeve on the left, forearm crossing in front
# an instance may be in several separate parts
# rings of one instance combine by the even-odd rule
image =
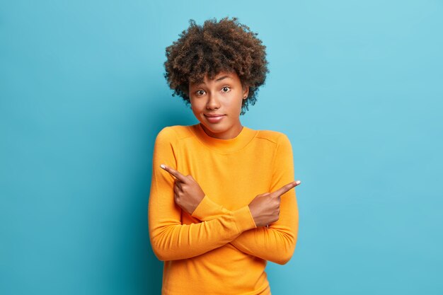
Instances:
[[[149,238],[159,260],[192,258],[233,241],[255,228],[248,206],[198,224],[182,224],[181,209],[174,202],[174,178],[160,168],[177,168],[178,139],[171,127],[159,132],[154,144],[148,205]]]

